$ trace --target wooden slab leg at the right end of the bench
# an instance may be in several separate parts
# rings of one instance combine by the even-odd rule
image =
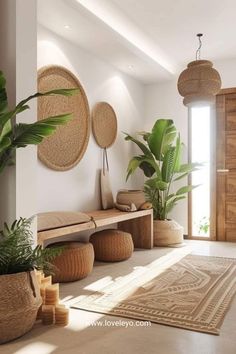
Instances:
[[[152,215],[119,222],[118,229],[132,235],[135,248],[153,248]]]

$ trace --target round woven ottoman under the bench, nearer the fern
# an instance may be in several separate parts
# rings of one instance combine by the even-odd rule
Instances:
[[[52,264],[53,282],[69,282],[87,277],[93,269],[94,250],[91,243],[74,241],[57,242],[48,247],[63,246],[65,250],[56,257]]]

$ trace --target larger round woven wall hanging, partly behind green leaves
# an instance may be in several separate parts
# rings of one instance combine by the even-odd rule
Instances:
[[[47,66],[38,71],[38,91],[79,88],[75,96],[53,95],[38,99],[38,120],[64,113],[73,119],[59,126],[38,147],[39,159],[49,168],[66,171],[82,159],[89,141],[90,112],[86,94],[79,80],[61,66]]]

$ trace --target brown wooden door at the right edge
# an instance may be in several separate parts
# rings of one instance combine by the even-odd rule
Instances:
[[[216,237],[236,242],[236,88],[216,97]]]

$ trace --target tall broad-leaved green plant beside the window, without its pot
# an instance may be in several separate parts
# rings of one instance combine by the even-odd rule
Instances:
[[[130,160],[126,180],[140,168],[147,177],[144,192],[147,201],[152,203],[154,219],[166,220],[177,202],[197,187],[185,185],[174,192],[174,182],[186,178],[201,164],[181,163],[183,143],[170,119],[158,119],[150,133],[138,134],[141,139],[125,135],[125,140],[132,141],[142,151]]]

